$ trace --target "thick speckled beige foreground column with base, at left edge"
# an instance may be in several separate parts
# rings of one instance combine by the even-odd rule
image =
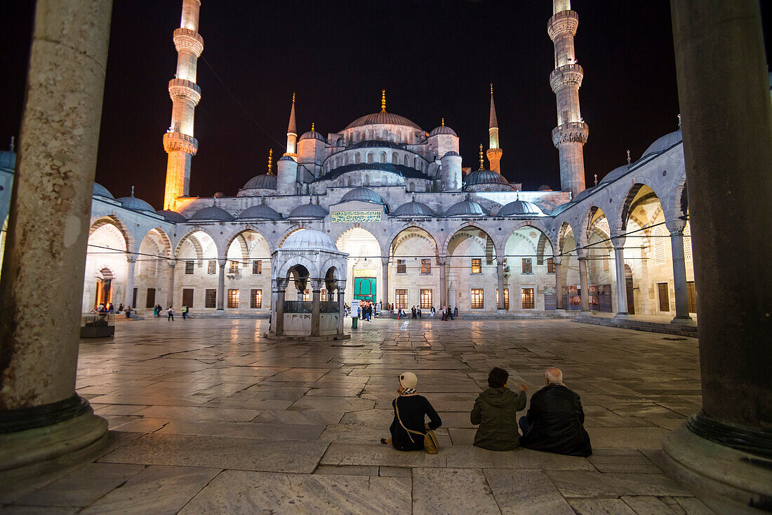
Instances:
[[[0,280],[0,469],[83,449],[107,431],[75,378],[111,8],[36,4]],[[30,309],[42,306],[56,309]]]

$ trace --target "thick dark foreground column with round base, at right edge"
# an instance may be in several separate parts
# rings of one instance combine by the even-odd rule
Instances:
[[[770,219],[772,109],[760,5],[672,0],[671,12],[703,409],[662,447],[693,484],[772,509],[772,470],[759,459],[772,459],[772,266],[759,232]]]

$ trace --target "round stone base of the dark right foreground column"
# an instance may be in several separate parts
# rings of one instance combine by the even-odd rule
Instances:
[[[709,496],[723,496],[747,507],[772,510],[770,461],[704,439],[686,425],[662,442],[665,473]]]

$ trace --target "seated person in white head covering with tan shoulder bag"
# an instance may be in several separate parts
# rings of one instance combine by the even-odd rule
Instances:
[[[391,437],[382,438],[381,443],[391,443],[398,451],[418,451],[424,448],[424,437],[408,432],[408,429],[425,434],[442,425],[442,419],[437,415],[435,408],[432,408],[432,404],[416,392],[416,385],[418,385],[418,378],[415,374],[412,372],[401,374],[397,388],[398,397],[391,401],[391,407],[394,408],[394,420],[389,427]],[[428,424],[425,423],[427,416]]]

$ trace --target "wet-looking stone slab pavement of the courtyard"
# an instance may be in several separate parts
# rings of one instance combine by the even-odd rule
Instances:
[[[699,408],[697,342],[569,320],[361,323],[350,341],[267,341],[267,320],[137,320],[80,346],[78,392],[107,447],[0,482],[2,513],[730,513],[662,473]],[[493,366],[528,395],[557,366],[594,454],[471,446]],[[401,371],[442,417],[441,450],[382,446]]]

